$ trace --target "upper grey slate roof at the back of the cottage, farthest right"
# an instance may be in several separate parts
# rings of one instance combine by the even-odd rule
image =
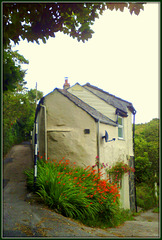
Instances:
[[[86,88],[108,104],[112,105],[113,107],[119,109],[120,111],[123,112],[123,115],[127,115],[127,108],[132,112],[135,113],[136,110],[133,107],[132,103],[125,101],[119,97],[116,97],[115,95],[112,95],[98,87],[95,87],[91,85],[90,83],[86,83],[82,87]]]

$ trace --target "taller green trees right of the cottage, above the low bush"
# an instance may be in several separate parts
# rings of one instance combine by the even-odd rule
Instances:
[[[135,169],[137,184],[159,182],[159,119],[136,125]]]

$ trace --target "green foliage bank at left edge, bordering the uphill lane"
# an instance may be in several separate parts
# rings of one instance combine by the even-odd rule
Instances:
[[[33,129],[35,102],[33,89],[25,93],[6,91],[3,94],[3,153],[14,145],[27,140]],[[39,92],[39,91],[38,91]],[[43,96],[39,92],[39,97]]]

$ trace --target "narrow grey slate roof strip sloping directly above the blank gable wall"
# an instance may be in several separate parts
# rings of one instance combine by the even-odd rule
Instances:
[[[87,103],[83,102],[81,99],[77,98],[76,96],[69,93],[68,91],[66,91],[64,89],[59,89],[59,88],[56,88],[55,90],[57,90],[58,92],[63,94],[70,101],[72,101],[75,105],[77,105],[78,107],[83,109],[85,112],[87,112],[91,117],[93,117],[95,119],[95,121],[99,120],[102,123],[109,124],[112,126],[117,126],[116,122],[114,122],[110,118],[106,117],[102,113],[98,112],[96,109],[89,106]]]

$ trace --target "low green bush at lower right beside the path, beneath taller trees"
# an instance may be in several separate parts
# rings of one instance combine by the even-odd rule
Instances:
[[[154,189],[143,183],[136,186],[137,206],[144,210],[151,209],[157,205]]]

